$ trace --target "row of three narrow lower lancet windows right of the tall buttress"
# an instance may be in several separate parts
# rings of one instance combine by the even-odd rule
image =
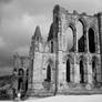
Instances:
[[[67,60],[67,82],[71,82],[71,61]],[[74,68],[75,69],[75,68]],[[80,74],[80,83],[88,83],[88,68],[83,59],[79,62],[79,74]],[[98,62],[95,59],[92,60],[92,80],[93,83],[98,82]]]

